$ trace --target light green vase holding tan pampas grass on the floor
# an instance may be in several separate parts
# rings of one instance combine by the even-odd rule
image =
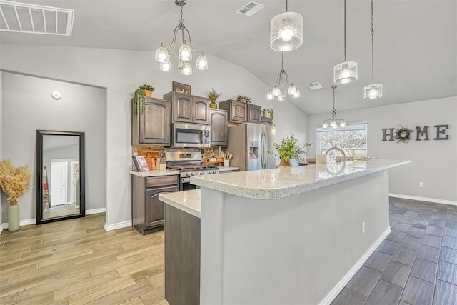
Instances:
[[[17,200],[30,186],[31,172],[27,166],[14,167],[9,160],[0,161],[0,186],[8,196],[8,231],[19,230]]]

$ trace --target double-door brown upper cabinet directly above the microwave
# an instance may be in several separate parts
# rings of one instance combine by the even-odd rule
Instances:
[[[171,101],[173,121],[209,124],[209,99],[176,92],[165,94],[164,99]]]

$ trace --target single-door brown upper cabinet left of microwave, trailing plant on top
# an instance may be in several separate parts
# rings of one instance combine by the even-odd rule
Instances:
[[[132,111],[131,144],[170,145],[170,101],[144,98],[144,111]]]

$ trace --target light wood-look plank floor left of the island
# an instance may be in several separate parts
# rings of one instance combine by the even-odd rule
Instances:
[[[0,234],[0,304],[168,304],[164,231],[106,232],[105,214]]]

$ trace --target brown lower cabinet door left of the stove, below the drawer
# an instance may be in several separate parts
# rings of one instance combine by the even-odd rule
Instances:
[[[164,224],[164,202],[159,200],[159,195],[174,191],[178,191],[178,186],[165,186],[146,191],[146,228]]]

